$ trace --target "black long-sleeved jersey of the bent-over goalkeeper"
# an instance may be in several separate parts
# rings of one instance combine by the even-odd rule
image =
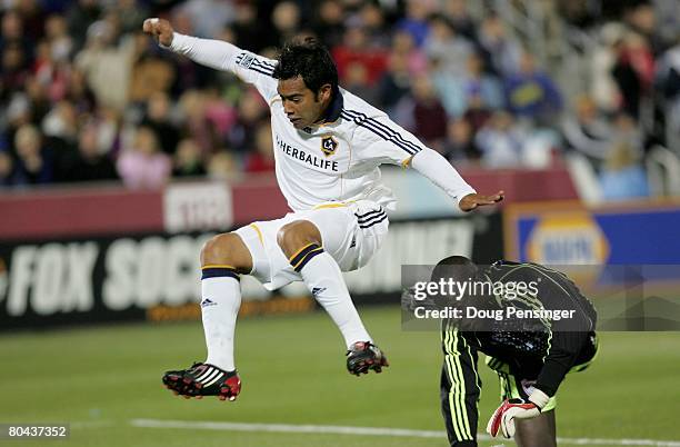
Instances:
[[[549,396],[570,368],[594,355],[596,310],[564,274],[500,260],[474,279],[490,282],[493,291],[486,299],[463,298],[463,306],[501,312],[502,318],[447,321],[444,334],[458,330],[471,347],[509,365],[511,374],[536,379],[536,387]],[[551,318],[558,314],[567,318]]]

